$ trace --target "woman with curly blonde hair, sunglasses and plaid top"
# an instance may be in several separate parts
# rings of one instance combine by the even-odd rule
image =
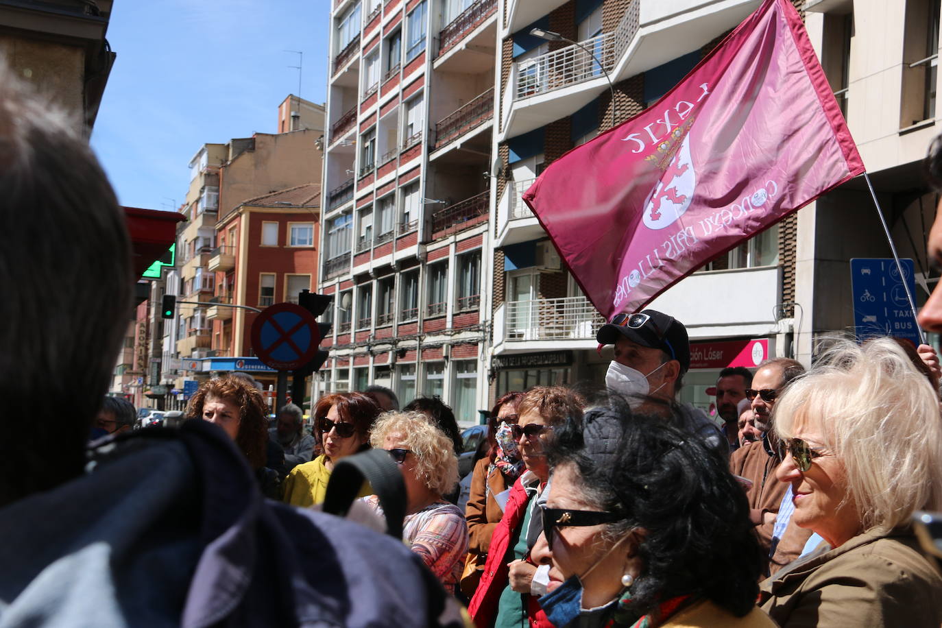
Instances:
[[[369,440],[388,451],[402,471],[408,500],[402,539],[453,593],[462,575],[468,531],[461,509],[442,497],[458,484],[451,440],[417,411],[382,414]],[[381,510],[376,495],[365,500]]]

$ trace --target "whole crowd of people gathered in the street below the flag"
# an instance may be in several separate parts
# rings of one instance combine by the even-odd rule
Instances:
[[[72,126],[0,86],[0,625],[942,625],[917,534],[942,511],[932,347],[834,338],[810,368],[724,369],[721,425],[679,401],[683,324],[618,314],[604,381],[496,400],[464,507],[437,398],[324,395],[309,434],[231,374],[179,427],[135,430],[103,401],[133,284],[122,210]],[[942,188],[942,141],[928,165]],[[918,320],[942,331],[942,289]],[[36,418],[37,399],[71,411]],[[402,539],[317,511],[361,452],[401,477]]]

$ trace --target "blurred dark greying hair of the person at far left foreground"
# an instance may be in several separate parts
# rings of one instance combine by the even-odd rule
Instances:
[[[88,143],[2,63],[0,199],[2,507],[81,475],[134,286],[124,212]],[[24,421],[37,399],[68,411]]]

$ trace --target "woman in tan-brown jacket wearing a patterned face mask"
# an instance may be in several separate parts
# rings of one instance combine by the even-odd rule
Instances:
[[[512,392],[497,399],[487,423],[487,456],[478,460],[471,475],[471,495],[464,507],[469,543],[462,578],[462,592],[469,599],[478,588],[494,529],[504,516],[504,509],[495,497],[510,489],[524,471],[512,430],[523,396]]]

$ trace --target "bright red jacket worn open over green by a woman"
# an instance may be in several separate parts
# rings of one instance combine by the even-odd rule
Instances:
[[[511,539],[513,533],[523,523],[528,505],[527,490],[517,479],[513,483],[510,496],[507,498],[504,516],[500,519],[500,523],[497,523],[494,536],[491,537],[491,547],[487,552],[487,562],[484,564],[484,572],[480,576],[478,590],[471,598],[471,604],[468,604],[468,613],[477,628],[490,628],[494,625],[500,594],[507,588],[510,579],[510,570],[507,563],[513,559],[511,556],[513,552]],[[546,619],[546,614],[540,608],[540,604],[537,604],[537,599],[532,595],[526,597],[530,626],[532,628],[554,628],[553,624]]]

